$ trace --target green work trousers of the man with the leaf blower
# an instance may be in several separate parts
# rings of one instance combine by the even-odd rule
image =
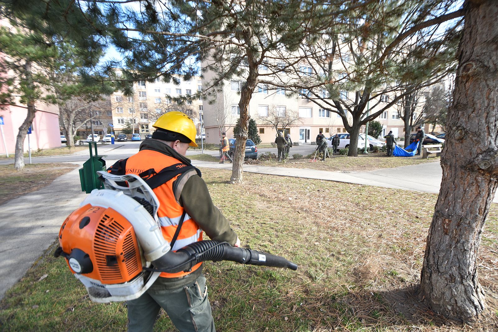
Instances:
[[[156,282],[138,299],[128,301],[128,331],[150,332],[161,308],[180,332],[216,332],[208,300],[206,278],[170,288],[166,278]]]

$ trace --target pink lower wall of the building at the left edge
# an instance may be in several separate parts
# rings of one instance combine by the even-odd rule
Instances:
[[[40,110],[37,107],[35,117],[33,119],[33,131],[29,135],[31,151],[37,149],[48,149],[61,146],[59,115],[54,113],[53,107],[40,105],[49,111]],[[3,116],[4,124],[3,136],[7,145],[8,153],[15,151],[15,139],[19,126],[26,118],[27,110],[25,107],[17,105],[2,105],[0,107],[0,116]],[[28,139],[24,140],[24,151],[28,150]],[[2,138],[0,136],[0,153],[5,153]]]

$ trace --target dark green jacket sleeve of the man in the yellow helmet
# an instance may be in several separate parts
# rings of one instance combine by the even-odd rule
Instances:
[[[179,203],[209,238],[235,244],[237,234],[221,211],[214,206],[208,187],[201,177],[194,175],[187,180],[180,194]]]

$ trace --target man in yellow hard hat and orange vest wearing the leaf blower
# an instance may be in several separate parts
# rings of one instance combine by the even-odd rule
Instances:
[[[157,216],[164,238],[173,251],[203,239],[240,246],[240,240],[229,221],[213,205],[200,171],[185,157],[195,143],[195,124],[186,114],[170,111],[157,119],[157,130],[140,144],[140,151],[111,167],[126,174],[144,174],[154,179],[164,170],[172,170],[169,180],[153,189],[159,199]],[[161,172],[161,173],[163,173]],[[169,176],[168,176],[169,177]],[[166,179],[168,178],[166,177]],[[164,178],[158,177],[162,182]],[[215,325],[208,300],[202,262],[190,271],[161,273],[154,284],[139,298],[128,301],[128,331],[152,331],[161,308],[181,332],[214,332]]]

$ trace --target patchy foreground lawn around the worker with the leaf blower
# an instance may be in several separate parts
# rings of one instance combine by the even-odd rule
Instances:
[[[218,331],[456,332],[470,326],[427,316],[422,307],[395,310],[400,290],[415,298],[425,238],[437,195],[400,192],[403,204],[378,188],[323,180],[244,173],[229,185],[231,171],[203,169],[216,206],[231,221],[242,245],[281,255],[297,271],[232,262],[206,262],[209,298]],[[317,200],[317,193],[334,199]],[[340,199],[337,199],[340,198]],[[417,211],[410,202],[425,202]],[[496,235],[493,205],[483,236]],[[61,221],[62,223],[62,221]],[[410,236],[406,236],[410,234]],[[97,304],[63,259],[46,254],[0,304],[2,331],[124,331],[124,303]],[[496,287],[491,250],[482,243],[479,278]],[[489,261],[489,262],[488,262]],[[41,276],[47,274],[43,280]],[[393,300],[396,299],[396,300]],[[498,308],[489,303],[483,331],[493,331]],[[486,330],[488,329],[488,330]],[[155,331],[175,331],[161,313]]]

